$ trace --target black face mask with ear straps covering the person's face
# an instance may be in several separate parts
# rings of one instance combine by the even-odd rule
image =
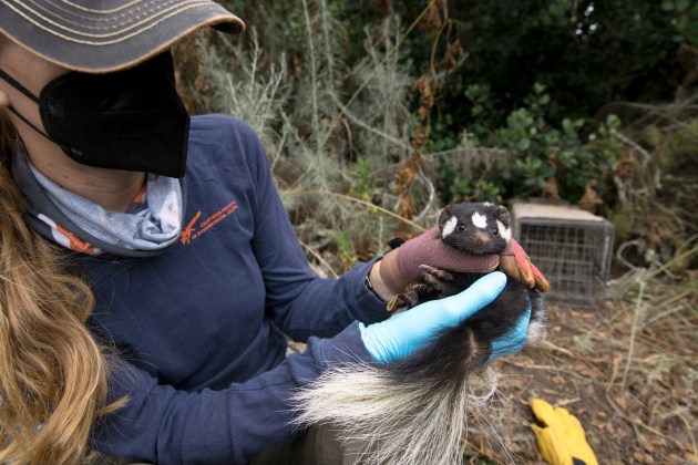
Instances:
[[[70,72],[49,82],[39,97],[2,70],[0,78],[39,104],[47,133],[9,110],[75,162],[184,176],[189,116],[170,52],[116,73]]]

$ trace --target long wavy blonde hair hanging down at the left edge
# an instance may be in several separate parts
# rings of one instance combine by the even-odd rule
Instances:
[[[0,114],[0,463],[73,464],[94,420],[119,404],[105,406],[107,366],[85,327],[92,291],[22,219],[8,120]]]

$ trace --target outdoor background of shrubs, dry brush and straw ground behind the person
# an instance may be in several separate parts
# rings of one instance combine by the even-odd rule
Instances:
[[[547,342],[497,365],[494,432],[465,461],[540,461],[537,395],[602,463],[698,463],[697,2],[222,3],[246,33],[178,45],[178,85],[193,114],[256,130],[318,275],[451,202],[542,197],[614,224],[609,300],[553,307]]]

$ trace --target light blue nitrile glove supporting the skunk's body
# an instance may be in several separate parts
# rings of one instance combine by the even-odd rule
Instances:
[[[422,303],[380,323],[359,323],[361,339],[378,363],[404,359],[427,345],[438,331],[460,324],[491,303],[505,285],[503,272],[491,272],[455,296]]]

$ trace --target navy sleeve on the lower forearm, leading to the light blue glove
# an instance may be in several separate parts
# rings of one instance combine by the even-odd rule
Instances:
[[[111,397],[126,396],[127,403],[95,424],[92,446],[152,463],[245,464],[297,433],[290,423],[292,391],[328,365],[369,360],[353,323],[332,339],[310,338],[304,353],[223,391],[177,391],[142,370],[115,363]]]

